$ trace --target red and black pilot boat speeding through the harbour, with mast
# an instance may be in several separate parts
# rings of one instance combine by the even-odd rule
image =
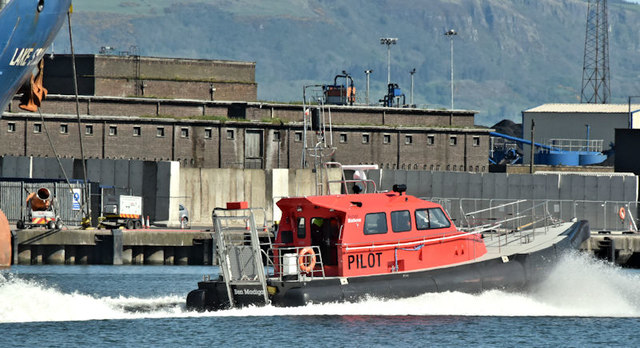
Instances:
[[[314,141],[322,144],[330,137],[322,122],[315,122],[321,126],[311,127],[320,138]],[[316,146],[307,153],[323,150]],[[442,205],[407,194],[405,185],[377,192],[364,175],[346,180],[342,169],[339,193],[277,202],[282,215],[273,240],[261,238],[268,229],[264,209],[250,209],[247,202],[215,209],[220,274],[198,283],[187,296],[187,308],[305,306],[443,291],[526,291],[545,279],[563,252],[577,249],[590,234],[587,221],[557,221],[548,209],[539,209],[542,215],[529,209],[502,222],[457,228]],[[331,187],[328,180],[319,179]],[[357,189],[350,191],[352,183]],[[370,187],[373,192],[367,193]],[[493,208],[504,210],[508,204],[512,203]]]

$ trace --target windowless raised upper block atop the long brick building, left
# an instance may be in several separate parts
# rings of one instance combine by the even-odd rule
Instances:
[[[44,87],[73,95],[71,56],[45,59]],[[87,96],[255,101],[256,63],[228,60],[76,55],[78,93]]]

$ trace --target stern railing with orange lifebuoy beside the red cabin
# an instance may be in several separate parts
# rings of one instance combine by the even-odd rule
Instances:
[[[279,247],[274,246],[266,252],[268,266],[273,270],[271,277],[278,280],[306,280],[325,278],[322,253],[318,246]]]

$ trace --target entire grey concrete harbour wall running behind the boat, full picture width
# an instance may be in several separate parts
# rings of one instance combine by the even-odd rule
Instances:
[[[82,178],[80,161],[61,159],[61,162],[70,177]],[[311,169],[186,168],[175,161],[103,159],[88,159],[86,163],[91,182],[142,196],[144,215],[149,215],[152,223],[170,227],[179,225],[179,204],[188,209],[190,223],[196,226],[210,226],[212,210],[229,201],[247,201],[252,207],[265,208],[268,218],[276,221],[279,219],[278,210],[274,210],[277,200],[316,193],[316,173]],[[331,175],[332,179],[340,177],[339,171]],[[349,177],[351,173],[346,175]],[[432,199],[591,202],[589,205],[593,205],[593,209],[583,209],[583,212],[576,209],[576,215],[581,215],[575,217],[590,220],[592,229],[609,228],[606,224],[596,224],[602,214],[596,211],[597,207],[604,202],[624,202],[632,215],[638,216],[635,204],[630,205],[638,200],[638,177],[630,173],[542,172],[531,175],[380,169],[369,171],[368,175],[380,183],[378,188],[381,190],[391,190],[394,184],[406,184],[410,194]],[[0,160],[0,177],[60,180],[64,176],[55,158],[5,156]],[[336,191],[334,187],[332,192]],[[17,215],[20,210],[14,208],[20,206],[22,196],[0,192],[0,209],[5,211],[10,222],[15,223],[20,218]],[[100,192],[93,194],[93,199],[99,201]],[[65,200],[61,205],[70,209],[70,203]],[[604,213],[608,216],[603,221],[616,214],[613,209],[619,207],[612,204],[611,211]]]

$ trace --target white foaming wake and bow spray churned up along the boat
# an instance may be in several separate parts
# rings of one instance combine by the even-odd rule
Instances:
[[[97,297],[64,293],[36,281],[0,274],[0,323],[175,317],[289,315],[640,317],[640,272],[584,254],[568,254],[540,287],[527,294],[445,292],[401,300],[368,299],[302,308],[248,307],[186,311],[184,296]]]

